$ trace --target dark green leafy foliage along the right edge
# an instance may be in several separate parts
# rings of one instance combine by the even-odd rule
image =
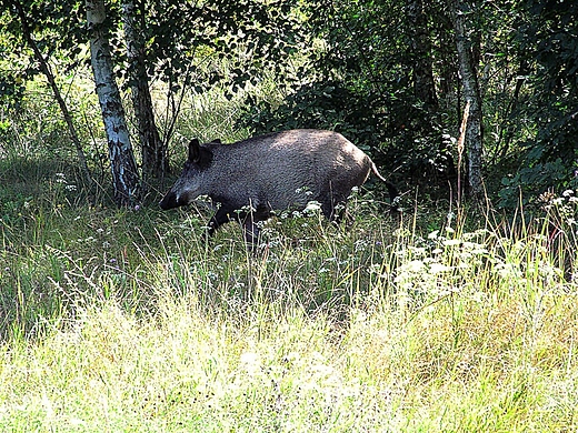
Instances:
[[[510,121],[531,133],[502,152],[517,169],[500,192],[510,207],[518,188],[527,197],[578,184],[578,4],[527,0],[519,13],[514,41],[528,89]]]

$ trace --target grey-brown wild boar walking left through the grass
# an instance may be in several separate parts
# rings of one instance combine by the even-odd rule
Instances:
[[[192,140],[182,173],[160,207],[172,209],[208,195],[219,208],[207,234],[236,220],[247,243],[255,244],[259,222],[273,211],[303,210],[317,201],[325,216],[339,220],[352,188],[363,184],[370,172],[386,182],[393,202],[396,188],[366,153],[337,132],[290,130],[232,144],[200,145]]]

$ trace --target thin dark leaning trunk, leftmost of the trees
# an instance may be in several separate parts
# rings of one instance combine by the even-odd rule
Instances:
[[[36,43],[34,39],[32,38],[32,30],[30,29],[30,23],[29,23],[27,14],[24,12],[24,8],[22,7],[22,3],[20,3],[18,0],[10,1],[10,3],[17,10],[18,17],[20,19],[20,23],[22,26],[22,36],[24,37],[24,40],[27,41],[28,46],[32,49],[32,52],[34,53],[34,58],[37,59],[38,63],[40,64],[40,70],[47,78],[48,83],[50,84],[50,88],[52,89],[52,93],[54,94],[54,99],[58,102],[60,112],[62,113],[62,117],[64,118],[64,121],[67,122],[70,139],[72,140],[72,143],[74,143],[74,148],[77,149],[77,155],[78,155],[78,162],[80,164],[80,171],[82,172],[82,175],[84,177],[84,181],[87,182],[87,185],[91,187],[93,184],[93,180],[92,180],[92,177],[90,175],[90,170],[87,164],[87,157],[84,155],[84,151],[82,150],[82,143],[80,142],[77,130],[74,128],[74,122],[72,121],[72,115],[70,114],[70,111],[68,110],[68,105],[64,102],[64,99],[62,98],[62,94],[60,93],[60,90],[57,85],[54,74],[52,73],[50,66],[48,64],[47,60],[40,52],[38,44]]]

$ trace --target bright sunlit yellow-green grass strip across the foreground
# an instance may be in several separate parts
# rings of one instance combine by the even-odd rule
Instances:
[[[109,300],[43,341],[4,348],[0,420],[16,431],[31,421],[303,432],[571,423],[575,299],[552,298],[539,328],[520,318],[517,294],[454,301],[458,316],[446,299],[411,316],[353,310],[336,326],[266,300],[219,314],[193,292],[165,293],[140,318]]]

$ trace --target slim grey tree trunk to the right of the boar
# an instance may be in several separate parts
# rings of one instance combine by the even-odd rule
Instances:
[[[481,177],[482,130],[481,130],[481,97],[478,87],[477,68],[474,61],[471,39],[468,31],[466,12],[469,4],[462,0],[450,0],[454,30],[456,32],[456,48],[458,51],[459,71],[461,75],[464,100],[470,103],[469,117],[466,125],[466,152],[468,158],[468,187],[476,199],[484,197],[484,181]]]

